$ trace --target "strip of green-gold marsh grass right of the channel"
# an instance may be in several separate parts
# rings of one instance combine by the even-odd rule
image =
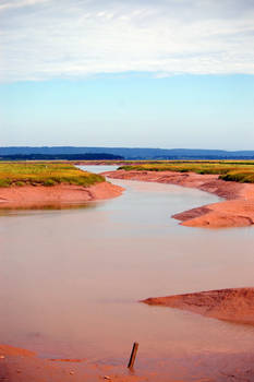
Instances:
[[[168,163],[121,166],[126,171],[179,171],[196,174],[218,174],[220,179],[254,183],[254,160],[244,162],[208,162],[208,160],[172,160]]]

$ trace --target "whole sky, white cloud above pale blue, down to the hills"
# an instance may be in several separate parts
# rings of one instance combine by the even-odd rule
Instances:
[[[0,132],[254,150],[254,0],[0,0]]]

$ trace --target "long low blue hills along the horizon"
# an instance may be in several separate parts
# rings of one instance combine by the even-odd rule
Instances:
[[[118,156],[120,159],[254,159],[254,151],[227,152],[222,150],[194,150],[194,148],[131,148],[131,147],[74,147],[74,146],[10,146],[0,147],[0,157],[7,156],[53,156],[57,159],[70,159],[71,155],[99,154],[104,157],[94,159],[109,159],[108,155]],[[105,156],[106,155],[106,156]],[[34,157],[35,158],[35,157]],[[74,159],[90,159],[75,157]],[[117,159],[112,157],[112,159]]]

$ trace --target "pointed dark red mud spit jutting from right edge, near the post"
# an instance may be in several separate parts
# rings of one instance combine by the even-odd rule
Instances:
[[[220,289],[152,297],[141,302],[188,310],[218,320],[254,325],[254,288]]]

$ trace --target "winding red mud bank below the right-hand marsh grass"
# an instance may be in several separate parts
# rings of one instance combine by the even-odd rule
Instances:
[[[170,183],[214,193],[227,201],[207,204],[172,217],[189,227],[223,228],[254,224],[254,184],[220,180],[218,175],[172,171],[105,172],[109,178]]]

